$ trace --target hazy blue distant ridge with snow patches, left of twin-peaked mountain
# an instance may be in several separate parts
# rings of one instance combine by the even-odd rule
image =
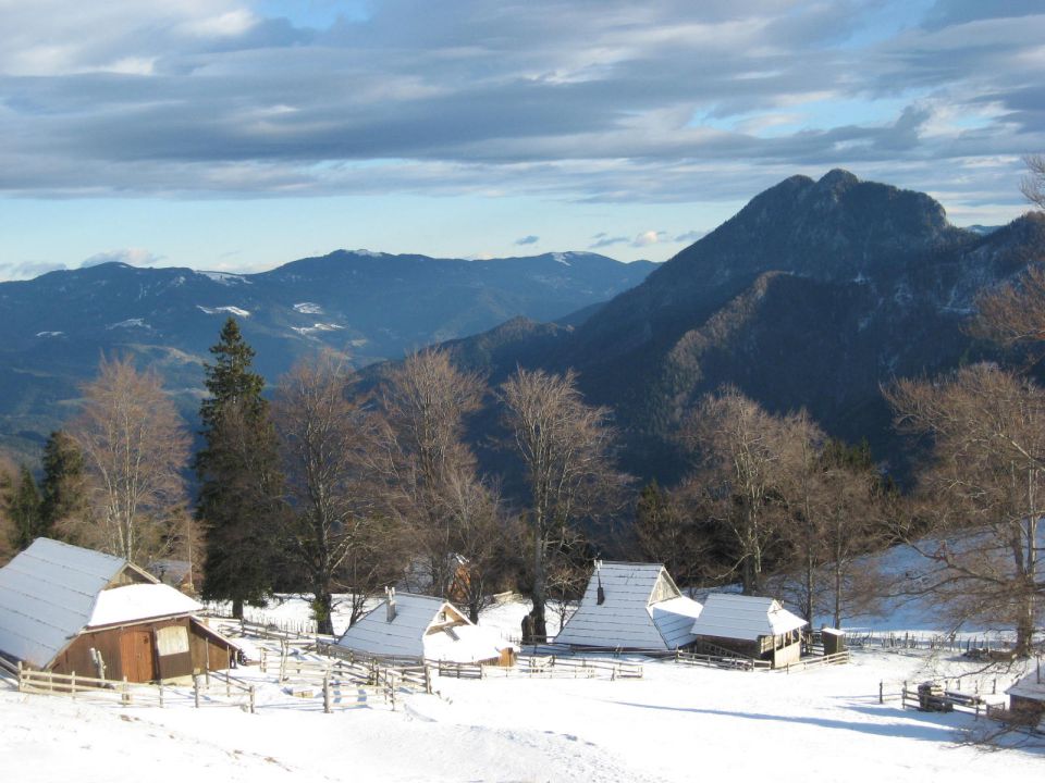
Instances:
[[[274,381],[323,346],[365,365],[515,316],[567,316],[655,266],[587,252],[468,261],[340,250],[258,274],[107,263],[0,283],[0,443],[34,450],[73,410],[102,352],[157,368],[192,414],[201,362],[229,315]]]

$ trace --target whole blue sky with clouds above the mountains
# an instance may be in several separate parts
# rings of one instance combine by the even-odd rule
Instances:
[[[0,0],[0,279],[663,261],[844,167],[1028,209],[1041,0]]]

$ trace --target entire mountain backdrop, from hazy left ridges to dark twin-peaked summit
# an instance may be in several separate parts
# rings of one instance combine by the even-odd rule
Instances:
[[[958,228],[924,194],[836,170],[785,179],[660,266],[339,251],[250,275],[53,272],[0,284],[0,440],[38,447],[102,351],[158,368],[193,414],[201,361],[234,314],[270,380],[322,346],[366,365],[444,341],[493,384],[517,364],[574,368],[588,399],[614,409],[625,468],[640,476],[677,477],[673,435],[723,384],[866,437],[902,474],[881,385],[992,356],[962,331],[976,296],[1043,259],[1040,213]],[[495,412],[475,424],[488,443]]]

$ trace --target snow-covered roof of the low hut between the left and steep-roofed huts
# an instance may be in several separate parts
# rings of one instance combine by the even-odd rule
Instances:
[[[442,598],[397,593],[395,617],[389,622],[388,599],[361,617],[337,639],[357,652],[384,658],[428,658],[470,662],[496,658],[500,635],[472,625]]]

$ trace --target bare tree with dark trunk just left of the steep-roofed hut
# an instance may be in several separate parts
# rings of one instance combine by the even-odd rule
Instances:
[[[546,638],[549,554],[571,537],[571,527],[610,498],[620,476],[611,469],[610,412],[585,403],[576,375],[519,368],[502,386],[505,422],[526,468],[532,533],[529,620],[532,636]]]

